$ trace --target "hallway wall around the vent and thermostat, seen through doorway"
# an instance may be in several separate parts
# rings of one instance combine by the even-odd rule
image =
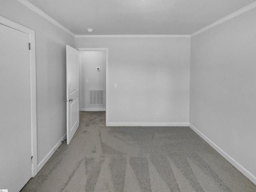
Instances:
[[[106,51],[81,51],[80,54],[81,110],[106,109]],[[100,71],[96,70],[97,67]],[[89,105],[89,90],[104,90],[104,105]]]

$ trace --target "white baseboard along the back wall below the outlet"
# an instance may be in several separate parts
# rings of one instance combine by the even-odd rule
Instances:
[[[109,122],[108,126],[188,126],[188,123],[116,123]]]

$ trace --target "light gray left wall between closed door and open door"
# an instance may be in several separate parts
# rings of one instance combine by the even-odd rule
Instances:
[[[74,37],[16,0],[1,0],[0,15],[35,31],[39,163],[66,134],[65,46]]]

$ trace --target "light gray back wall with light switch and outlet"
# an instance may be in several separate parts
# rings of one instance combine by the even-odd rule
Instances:
[[[188,122],[190,38],[75,38],[75,46],[108,48],[110,123]]]

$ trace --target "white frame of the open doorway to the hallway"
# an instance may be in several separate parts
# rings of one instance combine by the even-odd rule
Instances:
[[[78,51],[105,51],[106,52],[106,126],[108,126],[108,48],[76,48],[76,49]],[[79,78],[81,78],[81,60],[80,60],[79,70],[80,70]],[[79,86],[81,86],[81,84]],[[80,88],[80,90],[81,90],[81,88]],[[80,96],[80,93],[79,93],[79,96]],[[79,108],[80,108],[80,106],[79,106]]]

